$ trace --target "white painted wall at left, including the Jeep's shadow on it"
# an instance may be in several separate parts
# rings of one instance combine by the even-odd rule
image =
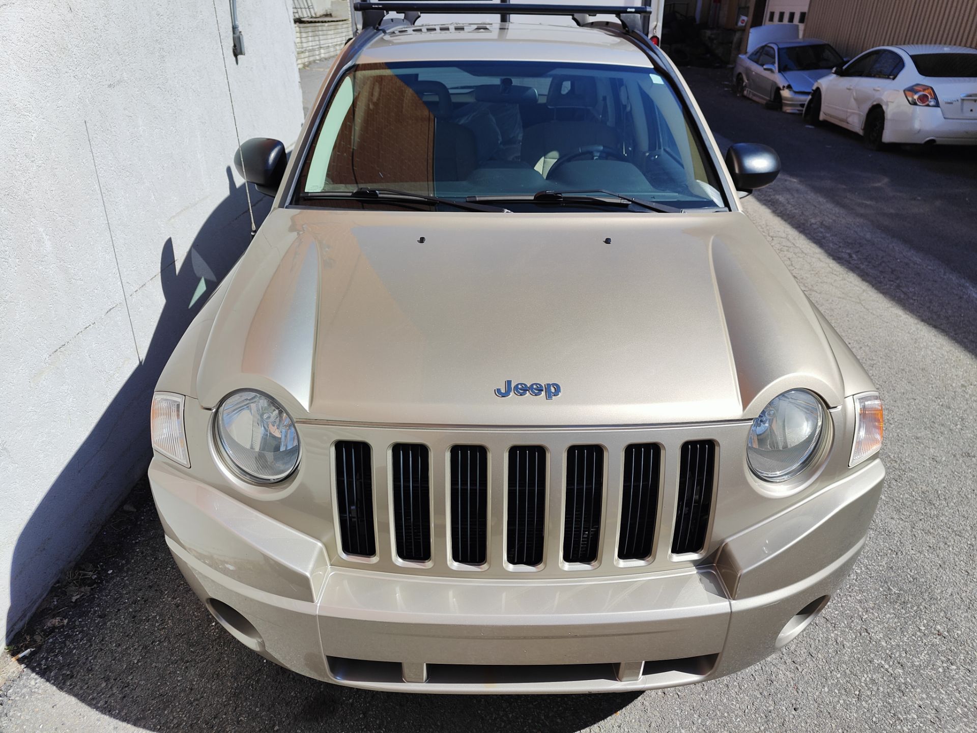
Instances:
[[[247,244],[232,98],[242,140],[298,135],[290,1],[238,13],[235,62],[227,0],[0,5],[0,637],[143,475],[159,370]]]

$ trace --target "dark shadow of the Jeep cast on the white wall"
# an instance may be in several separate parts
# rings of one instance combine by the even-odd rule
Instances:
[[[160,283],[165,304],[143,363],[136,367],[106,407],[102,417],[64,466],[23,527],[11,566],[8,635],[29,616],[62,569],[85,548],[106,517],[146,473],[149,403],[160,371],[193,316],[224,278],[248,244],[250,221],[242,186],[227,169],[228,195],[211,212],[176,263],[173,240],[160,251]],[[262,200],[264,199],[264,200]],[[260,205],[256,220],[271,199],[252,194]],[[83,394],[84,385],[78,385]],[[75,523],[84,523],[83,527]]]

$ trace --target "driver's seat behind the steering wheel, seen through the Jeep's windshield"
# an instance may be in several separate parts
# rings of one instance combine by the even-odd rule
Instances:
[[[559,74],[550,81],[546,108],[553,119],[532,125],[523,134],[522,159],[542,175],[562,156],[585,146],[619,148],[614,128],[595,114],[600,106],[597,81],[592,77]]]

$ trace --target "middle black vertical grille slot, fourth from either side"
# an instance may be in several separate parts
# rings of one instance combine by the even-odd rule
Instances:
[[[509,449],[506,556],[512,565],[543,560],[546,524],[546,452],[540,446]]]

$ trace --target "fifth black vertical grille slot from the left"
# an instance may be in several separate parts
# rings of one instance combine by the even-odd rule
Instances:
[[[592,563],[597,559],[604,491],[604,449],[572,446],[567,452],[567,507],[563,559]]]

